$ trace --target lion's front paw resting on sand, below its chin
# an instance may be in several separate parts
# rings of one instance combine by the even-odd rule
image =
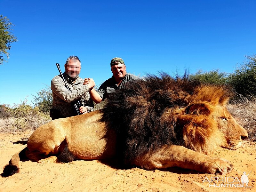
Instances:
[[[226,159],[212,157],[204,163],[205,172],[215,175],[226,175],[231,172],[233,165]]]

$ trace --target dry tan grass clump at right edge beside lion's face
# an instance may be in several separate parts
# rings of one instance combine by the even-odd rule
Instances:
[[[247,140],[256,140],[256,96],[240,96],[240,99],[233,101],[227,106],[229,112],[236,121],[248,132]]]

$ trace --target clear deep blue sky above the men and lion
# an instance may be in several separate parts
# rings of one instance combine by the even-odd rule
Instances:
[[[171,75],[188,69],[232,73],[256,54],[256,1],[16,1],[0,14],[15,24],[10,58],[0,65],[0,104],[30,100],[58,75],[70,55],[80,76],[110,78],[110,60],[127,72]]]

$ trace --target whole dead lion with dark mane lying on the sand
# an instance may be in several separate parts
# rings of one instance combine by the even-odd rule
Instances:
[[[142,169],[180,167],[225,175],[232,164],[210,156],[217,147],[236,150],[248,137],[225,105],[225,86],[200,84],[165,73],[127,83],[106,108],[44,124],[29,137],[26,157],[38,163],[116,157]],[[20,152],[3,177],[19,172]]]

